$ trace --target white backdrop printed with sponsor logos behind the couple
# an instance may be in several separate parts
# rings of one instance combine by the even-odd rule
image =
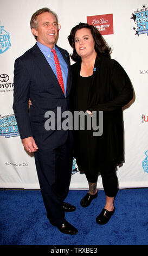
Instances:
[[[148,187],[148,3],[144,0],[0,0],[0,187],[40,189],[34,155],[23,148],[12,109],[14,62],[35,44],[31,15],[48,7],[59,16],[57,45],[72,53],[67,36],[79,22],[94,25],[126,70],[134,99],[124,108],[125,162],[119,188]],[[73,64],[73,62],[72,62]],[[105,163],[104,163],[105,164]],[[70,189],[87,189],[75,160]],[[102,188],[101,177],[98,188]]]

